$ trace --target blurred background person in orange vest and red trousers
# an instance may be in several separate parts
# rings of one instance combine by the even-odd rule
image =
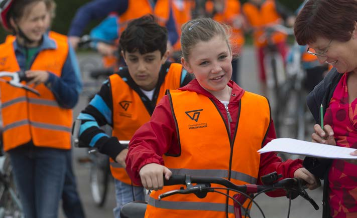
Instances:
[[[253,30],[254,45],[257,48],[257,59],[259,66],[259,78],[263,85],[266,84],[266,72],[264,67],[264,49],[268,44],[267,39],[262,39],[264,28],[286,21],[287,26],[293,26],[294,16],[277,0],[249,0],[242,7],[247,23]],[[288,48],[286,45],[286,34],[274,33],[273,42],[283,59],[285,60]]]

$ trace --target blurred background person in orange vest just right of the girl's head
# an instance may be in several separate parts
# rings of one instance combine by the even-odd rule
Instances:
[[[244,45],[242,27],[244,17],[241,13],[241,3],[237,0],[213,0],[206,2],[206,10],[210,18],[231,27],[230,45],[232,46],[232,80],[240,84],[239,62]]]

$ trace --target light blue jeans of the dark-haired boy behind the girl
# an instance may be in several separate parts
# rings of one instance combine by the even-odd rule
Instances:
[[[120,210],[126,203],[134,200],[145,200],[144,188],[128,185],[114,178],[116,207],[113,209],[114,217],[120,218]],[[133,197],[133,192],[134,196]]]

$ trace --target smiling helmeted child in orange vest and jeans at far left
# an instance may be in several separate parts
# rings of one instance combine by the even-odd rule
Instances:
[[[72,108],[81,83],[67,41],[47,35],[43,0],[3,0],[1,19],[16,38],[0,45],[0,71],[25,71],[40,96],[0,83],[4,150],[25,217],[57,217],[70,152]]]

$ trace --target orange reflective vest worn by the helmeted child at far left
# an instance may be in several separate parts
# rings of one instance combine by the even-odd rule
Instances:
[[[41,51],[31,70],[46,70],[61,77],[68,56],[68,43],[52,38],[56,49]],[[13,41],[0,45],[0,71],[20,71]],[[44,84],[35,88],[41,96],[7,83],[0,83],[4,122],[4,150],[16,148],[29,141],[35,146],[70,149],[72,110],[61,108],[51,90]]]

